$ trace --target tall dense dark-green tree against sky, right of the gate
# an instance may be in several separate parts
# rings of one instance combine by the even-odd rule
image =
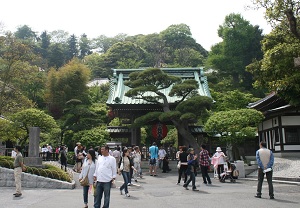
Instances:
[[[262,30],[240,14],[229,14],[218,35],[223,39],[211,48],[207,64],[223,76],[231,77],[233,86],[252,89],[252,77],[245,70],[253,59],[261,59]],[[241,84],[240,84],[241,83]]]

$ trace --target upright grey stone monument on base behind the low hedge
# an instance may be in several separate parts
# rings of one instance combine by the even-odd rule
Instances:
[[[42,158],[39,157],[39,145],[40,145],[40,128],[29,128],[29,148],[28,157],[24,158],[26,166],[42,167]]]

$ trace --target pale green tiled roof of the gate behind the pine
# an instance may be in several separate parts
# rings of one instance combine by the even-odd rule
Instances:
[[[145,69],[113,69],[113,78],[110,80],[110,92],[106,102],[107,105],[144,105],[152,104],[142,99],[132,99],[125,96],[125,93],[130,89],[124,85],[124,81],[129,79],[129,74],[134,71],[142,71]],[[201,96],[211,97],[207,78],[204,76],[203,68],[161,68],[162,71],[170,75],[179,76],[184,79],[195,79],[199,84],[198,93]],[[174,96],[168,96],[172,86],[169,88],[160,90],[167,95],[169,103],[175,103],[180,98]],[[153,92],[149,92],[147,96],[155,95]]]

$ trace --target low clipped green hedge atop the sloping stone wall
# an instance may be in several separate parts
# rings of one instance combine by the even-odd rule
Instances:
[[[0,156],[0,166],[13,169],[14,168],[14,159],[10,157]],[[45,168],[36,168],[36,167],[26,167],[26,173],[44,176],[47,178],[57,179],[61,181],[72,182],[71,176],[61,170],[60,168],[46,164]]]

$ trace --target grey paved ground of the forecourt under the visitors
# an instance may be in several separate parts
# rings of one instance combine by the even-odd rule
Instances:
[[[145,171],[146,172],[146,171]],[[119,189],[111,190],[111,208],[117,207],[300,207],[300,186],[274,183],[275,200],[268,197],[267,183],[263,185],[262,199],[254,198],[257,180],[239,179],[236,183],[220,183],[213,179],[213,185],[202,184],[201,176],[197,176],[199,191],[185,190],[177,182],[176,171],[160,173],[157,177],[145,173],[137,185],[129,188],[130,198],[120,195]],[[118,176],[117,186],[122,185],[122,177]],[[181,184],[182,185],[182,184]],[[1,208],[77,208],[83,207],[82,188],[73,190],[58,189],[24,189],[23,196],[13,197],[14,188],[0,188]],[[93,197],[89,196],[89,207],[93,207]]]

